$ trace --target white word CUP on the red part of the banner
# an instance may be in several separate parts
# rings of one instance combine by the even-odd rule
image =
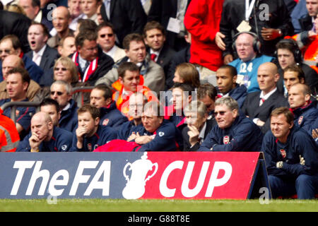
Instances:
[[[199,192],[202,190],[204,186],[204,181],[206,179],[206,174],[208,172],[208,167],[210,165],[210,162],[204,162],[201,167],[201,172],[199,175],[198,182],[194,189],[189,189],[189,181],[193,173],[195,162],[189,162],[187,165],[186,172],[184,174],[184,178],[182,180],[182,186],[181,186],[181,192],[184,197],[191,198],[199,194]],[[183,161],[175,161],[172,162],[170,165],[168,165],[165,168],[165,171],[163,172],[163,175],[160,179],[160,194],[167,198],[171,198],[175,196],[176,189],[169,189],[167,187],[167,179],[170,176],[170,173],[175,169],[182,169],[184,162]],[[223,169],[225,171],[225,174],[222,178],[218,178],[218,173],[220,170]],[[229,162],[215,162],[213,165],[211,177],[208,182],[208,187],[206,189],[206,197],[211,197],[213,194],[213,189],[216,186],[223,186],[228,182],[232,175],[232,165],[230,165]]]

